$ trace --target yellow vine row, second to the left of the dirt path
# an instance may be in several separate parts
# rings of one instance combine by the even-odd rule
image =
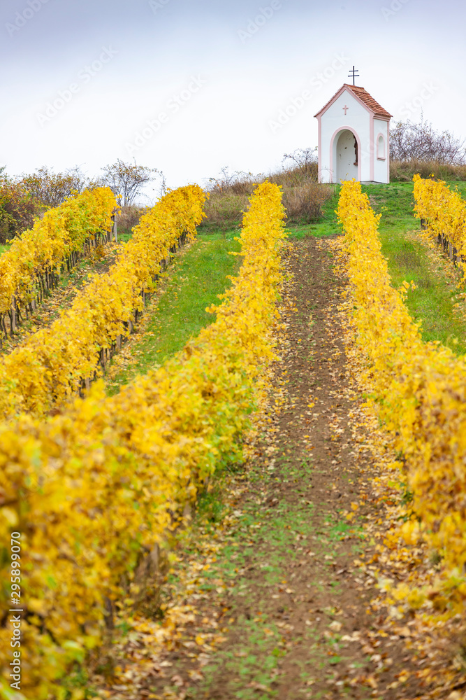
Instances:
[[[45,415],[79,392],[86,379],[94,379],[105,351],[129,335],[135,310],[143,309],[143,293],[153,290],[161,272],[161,260],[184,232],[194,235],[204,200],[203,191],[194,185],[162,197],[141,218],[109,272],[91,276],[54,323],[1,358],[3,419],[22,411]]]

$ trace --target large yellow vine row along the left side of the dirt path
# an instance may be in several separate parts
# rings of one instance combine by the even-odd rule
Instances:
[[[196,193],[176,190],[141,220],[132,248],[117,263],[133,290],[145,286],[151,260],[160,259],[172,232],[180,225],[193,232],[198,209],[191,202],[189,218],[180,204],[190,197],[200,204]],[[275,357],[283,217],[279,188],[263,183],[245,215],[240,273],[210,309],[216,321],[166,365],[115,397],[106,398],[97,382],[87,398],[48,421],[22,414],[0,426],[1,541],[9,542],[11,531],[22,533],[25,696],[62,696],[60,678],[72,661],[101,643],[109,610],[128,605],[136,593],[140,561],[182,520],[205,479],[238,457]],[[111,298],[108,293],[104,301]],[[94,314],[105,316],[105,304]],[[66,362],[66,353],[60,358]],[[7,563],[4,557],[3,608]],[[3,649],[8,636],[0,629]],[[9,697],[8,661],[2,659],[3,698]]]

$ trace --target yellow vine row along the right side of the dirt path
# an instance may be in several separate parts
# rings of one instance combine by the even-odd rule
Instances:
[[[422,187],[427,200],[428,188],[437,193],[437,183],[417,183],[418,191]],[[438,192],[442,193],[440,186]],[[431,211],[439,218],[448,216],[439,200]],[[367,356],[370,402],[395,435],[400,482],[406,482],[409,494],[398,534],[410,545],[423,540],[439,561],[430,588],[416,592],[416,605],[464,615],[466,362],[439,342],[422,341],[404,303],[409,284],[400,290],[391,286],[381,255],[379,216],[359,183],[343,184],[338,214],[345,232],[348,308],[357,342]],[[389,546],[396,546],[395,540],[391,537]],[[416,576],[410,577],[414,587]]]

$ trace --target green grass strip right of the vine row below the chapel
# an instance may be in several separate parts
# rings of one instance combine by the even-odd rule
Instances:
[[[466,193],[466,183],[458,183],[458,191]],[[449,262],[434,251],[434,264],[425,244],[418,239],[420,222],[414,218],[412,183],[365,185],[372,209],[382,218],[379,224],[381,251],[388,261],[388,270],[395,288],[403,280],[414,281],[407,308],[414,321],[421,321],[424,341],[439,340],[458,354],[466,353],[466,316],[455,314],[458,288],[449,276]],[[456,343],[456,340],[458,343]]]

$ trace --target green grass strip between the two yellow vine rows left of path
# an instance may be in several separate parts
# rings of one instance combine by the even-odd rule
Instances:
[[[162,282],[164,292],[148,309],[151,316],[146,331],[132,346],[134,361],[108,381],[110,394],[137,374],[161,365],[201,328],[213,323],[215,316],[205,309],[219,303],[218,295],[231,285],[227,276],[235,276],[241,265],[240,256],[229,254],[240,251],[237,235],[238,230],[201,234],[190,248],[175,255]]]

